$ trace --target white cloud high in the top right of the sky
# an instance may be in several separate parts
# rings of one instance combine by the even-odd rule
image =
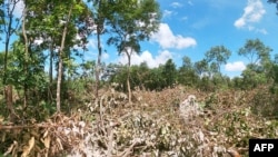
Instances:
[[[239,29],[267,33],[266,30],[261,31],[262,29],[256,29],[252,26],[254,23],[259,22],[265,13],[266,10],[260,0],[248,0],[244,14],[235,21],[234,26]]]

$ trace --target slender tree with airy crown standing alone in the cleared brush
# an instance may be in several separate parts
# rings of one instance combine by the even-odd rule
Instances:
[[[131,56],[133,52],[140,52],[140,41],[148,40],[151,33],[157,31],[160,20],[159,4],[155,0],[116,0],[109,7],[112,8],[108,18],[112,37],[109,38],[108,45],[115,45],[119,53],[128,57],[127,86],[131,104]]]

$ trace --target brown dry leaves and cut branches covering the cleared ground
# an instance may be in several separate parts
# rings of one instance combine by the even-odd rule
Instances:
[[[224,156],[229,147],[247,153],[251,137],[277,137],[275,121],[251,111],[254,92],[196,91],[185,87],[133,91],[133,104],[112,89],[77,115],[54,115],[37,124],[24,141],[14,140],[7,155],[30,156]],[[186,120],[179,104],[197,97],[202,114]],[[101,111],[99,105],[101,104]],[[100,114],[101,112],[101,114]],[[100,116],[101,115],[101,116]],[[87,119],[87,120],[83,120]],[[30,134],[30,129],[37,134]],[[23,147],[22,144],[27,144]]]

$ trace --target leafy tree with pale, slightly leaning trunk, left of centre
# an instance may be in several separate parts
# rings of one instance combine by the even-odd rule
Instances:
[[[92,21],[89,19],[91,12],[83,1],[27,1],[28,6],[28,36],[42,40],[43,49],[50,49],[50,65],[52,66],[53,50],[57,49],[58,72],[57,72],[57,111],[61,107],[61,85],[64,68],[71,61],[71,52],[77,52],[73,46],[85,49],[87,43],[89,27]],[[39,33],[38,33],[39,32]],[[77,40],[76,37],[80,39]],[[50,67],[51,67],[50,66]],[[52,67],[51,67],[52,68]],[[52,73],[52,69],[50,70]],[[52,76],[50,75],[51,79]]]

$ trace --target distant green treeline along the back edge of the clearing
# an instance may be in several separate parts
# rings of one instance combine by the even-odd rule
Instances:
[[[147,62],[130,68],[131,88],[139,87],[148,90],[161,90],[175,85],[183,85],[197,88],[202,91],[216,91],[218,89],[254,89],[258,86],[270,86],[272,92],[277,92],[278,78],[278,55],[271,59],[271,48],[267,47],[259,39],[248,39],[238,55],[249,60],[246,69],[238,77],[230,78],[221,73],[221,66],[227,63],[230,50],[224,46],[212,47],[205,53],[200,61],[192,62],[189,57],[182,58],[181,67],[177,67],[169,59],[158,68],[148,68]],[[113,65],[110,66],[111,69]],[[125,66],[115,66],[118,69],[111,76],[111,82],[122,86],[121,90],[127,90],[127,69]]]

